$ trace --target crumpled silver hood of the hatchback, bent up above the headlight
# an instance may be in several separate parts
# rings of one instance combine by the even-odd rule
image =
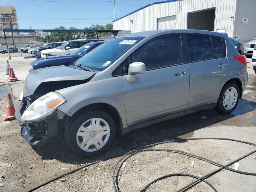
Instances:
[[[42,82],[86,80],[95,72],[75,69],[67,66],[53,66],[34,70],[26,77],[23,96],[32,95]]]

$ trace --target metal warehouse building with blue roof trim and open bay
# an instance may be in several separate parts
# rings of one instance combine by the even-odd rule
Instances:
[[[166,0],[113,20],[113,28],[134,32],[200,29],[256,38],[256,0]]]

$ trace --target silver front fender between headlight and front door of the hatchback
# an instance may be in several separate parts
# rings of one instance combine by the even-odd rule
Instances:
[[[90,81],[57,92],[66,99],[66,103],[58,109],[68,116],[72,116],[78,110],[90,104],[105,103],[116,108],[122,118],[123,127],[127,126],[122,76]]]

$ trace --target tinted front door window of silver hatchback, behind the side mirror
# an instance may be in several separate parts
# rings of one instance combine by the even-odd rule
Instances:
[[[150,40],[131,55],[131,62],[143,62],[146,70],[182,63],[180,35]]]

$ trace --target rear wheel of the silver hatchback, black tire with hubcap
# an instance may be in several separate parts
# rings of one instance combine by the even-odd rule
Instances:
[[[233,95],[231,92],[233,92],[234,89],[236,92]],[[229,94],[226,94],[226,91],[228,91],[228,93],[230,93],[231,95],[229,96]],[[227,98],[227,95],[229,96],[229,98]],[[232,99],[234,99],[235,96],[236,96],[236,100],[233,100],[232,102]],[[236,106],[238,105],[239,98],[240,98],[240,90],[237,84],[231,82],[224,85],[224,87],[220,92],[220,96],[218,98],[216,110],[220,114],[229,114],[233,112],[236,109]],[[224,100],[226,100],[226,102],[224,102]],[[230,103],[231,103],[231,106],[229,105]]]

